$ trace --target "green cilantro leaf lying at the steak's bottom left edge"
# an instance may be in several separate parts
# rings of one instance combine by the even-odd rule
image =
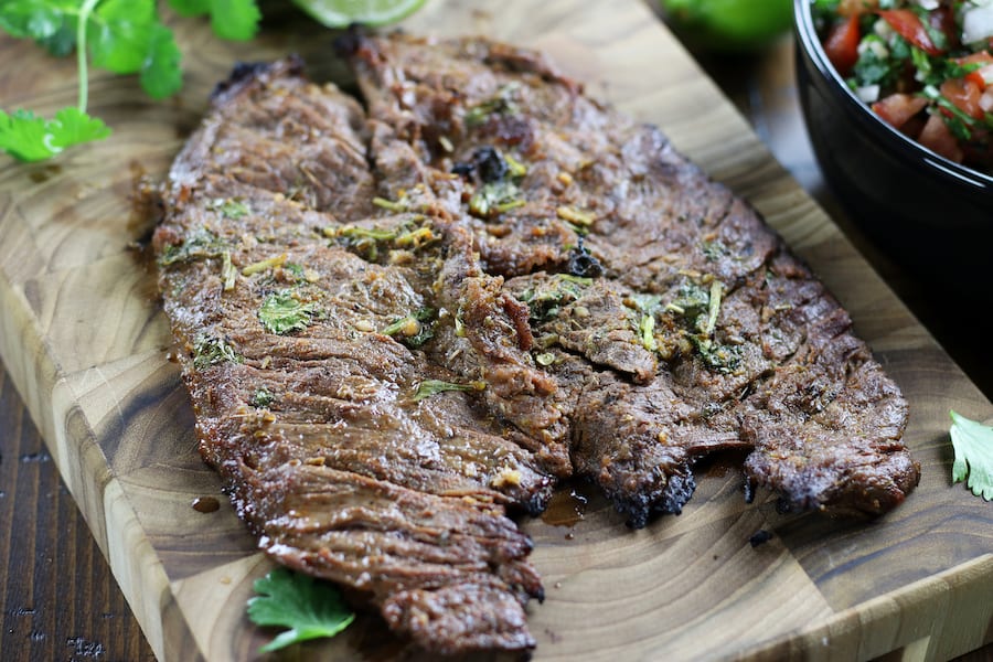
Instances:
[[[310,639],[334,637],[355,619],[334,586],[284,567],[256,579],[253,588],[260,595],[248,600],[252,622],[289,628],[260,648],[260,653]]]

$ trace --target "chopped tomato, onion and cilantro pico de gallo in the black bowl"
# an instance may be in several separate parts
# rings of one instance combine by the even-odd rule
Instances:
[[[812,0],[828,58],[888,124],[993,174],[993,0]]]

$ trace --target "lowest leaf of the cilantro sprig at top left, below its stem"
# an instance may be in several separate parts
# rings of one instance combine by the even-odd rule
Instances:
[[[55,119],[45,119],[30,110],[0,110],[0,149],[21,161],[42,161],[66,147],[100,140],[110,129],[97,118],[75,107],[63,108]]]

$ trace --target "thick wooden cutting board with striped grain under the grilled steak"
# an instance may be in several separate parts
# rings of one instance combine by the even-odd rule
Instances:
[[[245,660],[271,631],[245,619],[269,563],[196,453],[193,416],[154,277],[129,244],[150,220],[132,192],[158,180],[213,84],[238,61],[296,51],[339,75],[331,35],[280,10],[250,44],[170,19],[186,55],[180,97],[96,74],[92,111],[115,130],[51,164],[0,157],[0,352],[121,589],[161,660]],[[948,410],[993,404],[839,233],[639,0],[429,0],[416,33],[482,33],[546,51],[590,93],[660,125],[715,179],[750,200],[852,313],[911,405],[918,490],[871,523],[781,515],[743,498],[714,463],[681,516],[632,532],[591,490],[566,490],[528,520],[546,588],[532,604],[536,660],[944,660],[993,641],[993,504],[950,479]],[[71,60],[0,38],[0,99],[51,116],[74,103]],[[585,493],[584,493],[585,492]],[[192,508],[221,502],[216,512]],[[581,512],[581,516],[579,516]],[[752,534],[772,534],[752,546]],[[392,660],[374,618],[290,659]],[[887,658],[890,659],[890,658]]]

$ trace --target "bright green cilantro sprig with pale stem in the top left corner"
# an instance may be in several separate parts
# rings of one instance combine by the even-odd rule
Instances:
[[[177,13],[209,14],[215,34],[252,39],[261,18],[255,0],[168,0]],[[4,0],[0,30],[34,40],[52,55],[76,51],[77,102],[45,118],[19,108],[0,110],[0,149],[21,161],[42,161],[83,142],[102,140],[110,129],[86,113],[89,66],[137,74],[153,99],[182,87],[182,54],[172,31],[159,19],[156,0]]]

